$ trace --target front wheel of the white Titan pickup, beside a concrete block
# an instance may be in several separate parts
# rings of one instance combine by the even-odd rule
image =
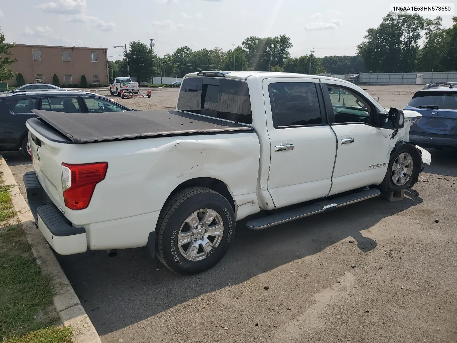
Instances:
[[[387,168],[387,191],[413,187],[421,168],[422,161],[416,147],[410,143],[399,146],[391,155]]]

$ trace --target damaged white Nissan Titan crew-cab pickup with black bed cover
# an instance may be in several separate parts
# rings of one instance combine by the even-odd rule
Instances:
[[[317,75],[199,72],[176,110],[35,113],[24,183],[54,250],[145,246],[184,274],[218,263],[251,214],[267,210],[258,230],[410,188],[431,161],[408,142],[419,113]]]

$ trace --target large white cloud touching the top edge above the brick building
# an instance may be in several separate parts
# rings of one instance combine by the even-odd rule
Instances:
[[[85,0],[58,0],[38,5],[43,12],[57,13],[64,17],[64,21],[73,23],[87,23],[90,27],[96,27],[101,31],[114,31],[117,26],[113,22],[105,22],[96,16],[87,15]]]

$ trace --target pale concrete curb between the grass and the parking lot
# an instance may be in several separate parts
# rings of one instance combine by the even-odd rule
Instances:
[[[60,267],[48,242],[40,230],[35,226],[35,219],[27,202],[17,187],[16,180],[0,155],[0,174],[3,176],[5,185],[10,185],[10,193],[14,209],[27,234],[27,240],[32,245],[32,253],[37,259],[37,264],[43,273],[51,276],[55,289],[53,303],[56,311],[65,326],[71,325],[74,332],[74,343],[101,343],[100,337],[87,316],[80,300],[74,293],[64,271]]]

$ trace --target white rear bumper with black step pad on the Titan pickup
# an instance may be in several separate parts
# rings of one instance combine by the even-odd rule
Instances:
[[[61,255],[71,255],[87,250],[84,227],[74,227],[48,198],[35,171],[24,174],[27,201],[38,229],[49,245]]]

